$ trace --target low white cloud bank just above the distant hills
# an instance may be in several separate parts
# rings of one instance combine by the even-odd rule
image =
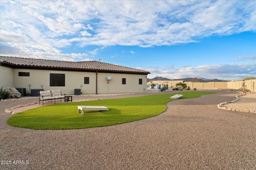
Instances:
[[[143,69],[143,68],[140,68]],[[256,63],[251,64],[213,64],[198,65],[195,67],[148,67],[144,70],[150,71],[149,78],[161,76],[170,79],[203,77],[209,79],[238,80],[245,77],[255,77]]]

